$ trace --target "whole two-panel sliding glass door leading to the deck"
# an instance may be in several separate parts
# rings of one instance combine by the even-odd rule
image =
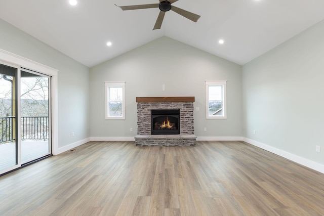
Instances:
[[[0,174],[51,154],[51,77],[0,64]]]

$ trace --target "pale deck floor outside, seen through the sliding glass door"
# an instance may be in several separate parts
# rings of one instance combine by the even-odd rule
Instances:
[[[27,162],[49,152],[49,143],[45,141],[22,141],[21,160]],[[0,170],[16,165],[16,143],[0,144]]]

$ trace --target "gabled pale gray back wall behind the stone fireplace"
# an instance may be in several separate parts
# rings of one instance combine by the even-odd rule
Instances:
[[[161,37],[90,71],[91,137],[134,137],[136,97],[174,96],[195,97],[194,106],[200,108],[194,111],[196,136],[242,136],[241,66],[235,63]],[[227,79],[227,119],[206,119],[207,79]],[[125,120],[105,120],[104,81],[126,81]]]

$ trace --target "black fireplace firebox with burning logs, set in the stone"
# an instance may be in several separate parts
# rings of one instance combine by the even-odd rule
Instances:
[[[180,110],[151,110],[151,134],[180,134]]]

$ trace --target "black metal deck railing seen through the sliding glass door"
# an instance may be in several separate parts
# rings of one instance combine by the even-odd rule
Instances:
[[[15,117],[0,117],[0,143],[15,140],[14,120]],[[21,117],[22,140],[48,140],[49,139],[48,116],[25,116]]]

